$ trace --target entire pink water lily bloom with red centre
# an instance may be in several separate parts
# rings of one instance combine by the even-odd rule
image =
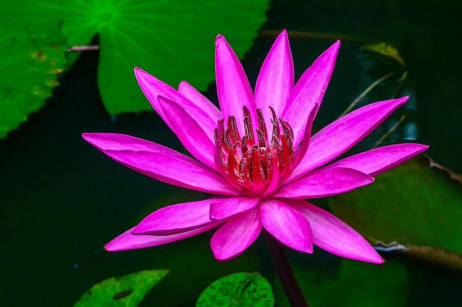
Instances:
[[[408,97],[357,109],[311,136],[339,41],[294,85],[292,55],[283,31],[267,55],[254,94],[222,35],[215,45],[221,111],[186,81],[177,91],[135,68],[143,93],[195,159],[128,135],[83,134],[107,156],[144,175],[218,195],[157,210],[107,243],[106,249],[157,246],[218,227],[211,240],[213,255],[228,260],[243,253],[265,228],[277,241],[304,253],[312,253],[315,244],[345,258],[382,263],[354,229],[303,199],[352,191],[425,151],[426,145],[390,145],[324,166]]]

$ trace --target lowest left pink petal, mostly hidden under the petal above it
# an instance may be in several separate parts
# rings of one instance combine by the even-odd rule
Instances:
[[[183,240],[198,234],[201,234],[205,231],[213,229],[215,227],[223,224],[222,222],[213,222],[206,226],[196,228],[194,230],[178,233],[170,236],[141,236],[141,235],[132,235],[132,229],[128,229],[123,234],[113,239],[111,242],[105,245],[105,249],[109,252],[118,252],[129,249],[138,249],[158,246],[170,242],[175,242]]]

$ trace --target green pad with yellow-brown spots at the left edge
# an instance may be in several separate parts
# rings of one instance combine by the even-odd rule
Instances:
[[[0,137],[4,137],[52,95],[66,64],[66,41],[57,21],[0,25]]]

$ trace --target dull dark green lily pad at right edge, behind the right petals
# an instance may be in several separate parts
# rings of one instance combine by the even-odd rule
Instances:
[[[460,181],[426,156],[377,176],[371,185],[329,198],[329,206],[367,238],[462,254]]]

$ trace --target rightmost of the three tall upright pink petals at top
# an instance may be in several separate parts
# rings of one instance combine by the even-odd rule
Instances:
[[[282,118],[294,130],[294,145],[303,138],[303,130],[307,124],[311,110],[319,106],[334,72],[340,41],[324,51],[318,59],[302,75],[287,100]],[[315,113],[316,115],[316,113]]]

